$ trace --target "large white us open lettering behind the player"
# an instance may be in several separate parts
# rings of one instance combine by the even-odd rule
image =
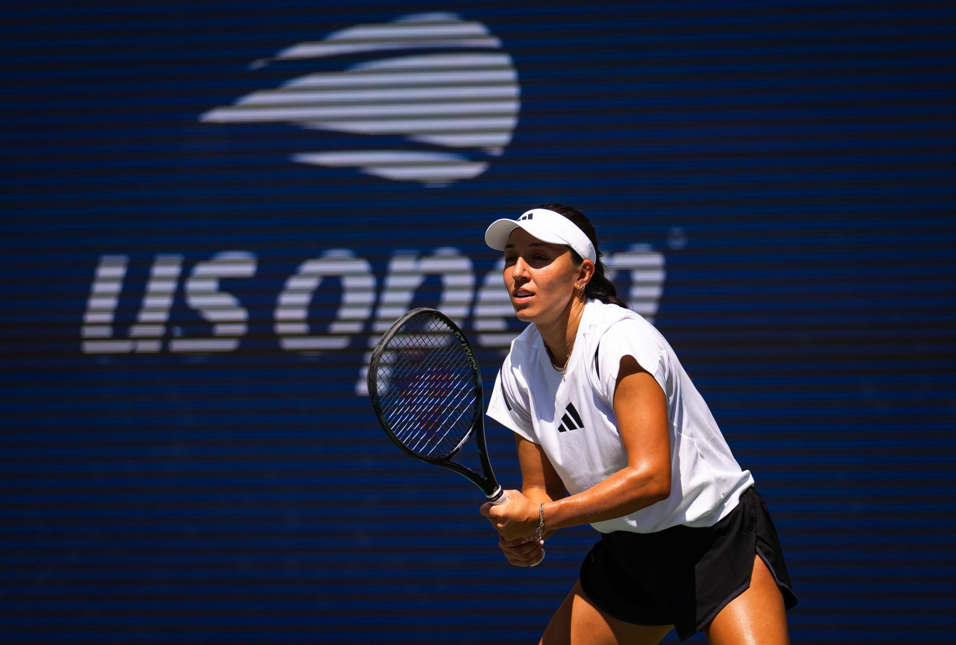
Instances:
[[[620,292],[627,305],[653,321],[663,293],[664,256],[648,245],[631,245],[604,256],[612,279],[626,275],[629,286]],[[271,312],[260,308],[250,312],[247,304],[225,289],[223,280],[252,278],[260,269],[260,258],[245,250],[223,251],[186,266],[179,253],[149,259],[148,277],[128,275],[131,264],[146,258],[129,255],[102,255],[93,275],[80,330],[84,354],[215,355],[241,350],[251,319],[272,318],[272,330],[279,348],[303,355],[335,354],[352,346],[360,336],[369,348],[362,358],[355,392],[365,396],[371,348],[381,333],[407,312],[429,275],[441,279],[438,306],[455,324],[469,320],[477,347],[504,350],[520,333],[508,323],[514,317],[511,299],[502,283],[504,258],[499,258],[484,275],[460,249],[441,247],[421,254],[396,250],[380,280],[371,263],[354,249],[332,248],[319,257],[304,259],[275,294]],[[144,267],[143,267],[144,269]],[[310,320],[309,308],[319,285],[338,279],[341,299],[329,320]],[[234,284],[234,283],[233,283]],[[139,299],[139,312],[132,323],[120,323],[120,299]],[[211,335],[180,333],[180,321],[173,313],[180,299],[210,325]],[[267,298],[267,302],[272,300]],[[580,423],[578,423],[580,426]]]

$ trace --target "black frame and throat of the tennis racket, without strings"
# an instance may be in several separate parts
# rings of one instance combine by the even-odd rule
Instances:
[[[462,345],[462,349],[465,351],[468,363],[471,365],[471,379],[475,388],[474,420],[471,423],[471,429],[465,433],[465,437],[462,438],[462,441],[459,441],[458,445],[455,446],[453,450],[437,459],[424,457],[423,455],[419,455],[418,453],[405,447],[402,441],[399,441],[398,437],[395,436],[388,419],[385,419],[382,415],[379,404],[378,368],[381,355],[388,346],[389,341],[395,336],[396,333],[399,332],[399,330],[402,329],[405,323],[420,315],[427,315],[441,320],[443,323],[445,323],[445,325],[448,326],[451,332],[455,334],[455,336],[458,338],[458,342],[460,342]],[[444,466],[445,468],[448,468],[449,470],[452,470],[463,477],[467,477],[472,484],[475,484],[482,489],[482,492],[485,493],[485,496],[490,502],[496,502],[502,497],[504,491],[494,477],[494,471],[491,469],[491,462],[489,461],[488,457],[488,446],[485,442],[485,391],[482,387],[481,368],[478,367],[478,361],[475,358],[474,350],[471,349],[471,345],[468,343],[465,333],[462,332],[462,330],[454,323],[451,318],[446,316],[444,313],[439,312],[438,310],[430,309],[428,307],[420,307],[405,313],[401,318],[396,320],[392,326],[388,328],[388,331],[382,334],[378,344],[372,351],[372,358],[369,361],[368,367],[368,396],[372,401],[372,408],[375,410],[375,416],[379,419],[385,434],[388,435],[388,438],[392,440],[395,445],[399,446],[403,453],[409,457],[419,460],[420,462],[434,463],[436,465]],[[472,434],[475,435],[475,442],[478,444],[478,458],[481,460],[482,470],[485,473],[484,477],[476,473],[471,468],[468,468],[466,465],[450,461],[451,458],[454,457],[459,450],[461,450],[462,446],[468,441],[468,437],[470,437]]]

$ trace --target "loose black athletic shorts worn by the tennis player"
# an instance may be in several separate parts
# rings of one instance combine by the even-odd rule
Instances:
[[[604,533],[581,565],[581,589],[605,613],[636,625],[673,625],[681,640],[704,629],[750,587],[753,556],[796,605],[783,550],[755,488],[712,527]]]

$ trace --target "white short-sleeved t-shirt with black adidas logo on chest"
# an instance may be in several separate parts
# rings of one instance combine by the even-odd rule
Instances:
[[[733,510],[753,478],[730,454],[704,398],[670,345],[638,313],[588,301],[563,379],[541,334],[529,325],[511,343],[495,379],[488,416],[540,444],[570,494],[587,490],[627,465],[613,407],[625,355],[634,356],[667,397],[670,497],[591,526],[602,533],[713,526]]]

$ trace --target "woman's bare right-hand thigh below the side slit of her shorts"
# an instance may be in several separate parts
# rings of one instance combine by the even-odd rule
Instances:
[[[773,575],[753,556],[750,588],[730,601],[704,629],[710,645],[789,645],[787,613]]]

